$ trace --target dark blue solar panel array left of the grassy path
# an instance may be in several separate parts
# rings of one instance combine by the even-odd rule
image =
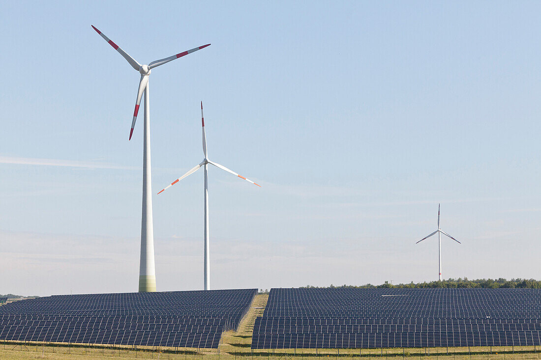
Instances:
[[[257,289],[59,295],[0,307],[0,339],[217,348]]]

